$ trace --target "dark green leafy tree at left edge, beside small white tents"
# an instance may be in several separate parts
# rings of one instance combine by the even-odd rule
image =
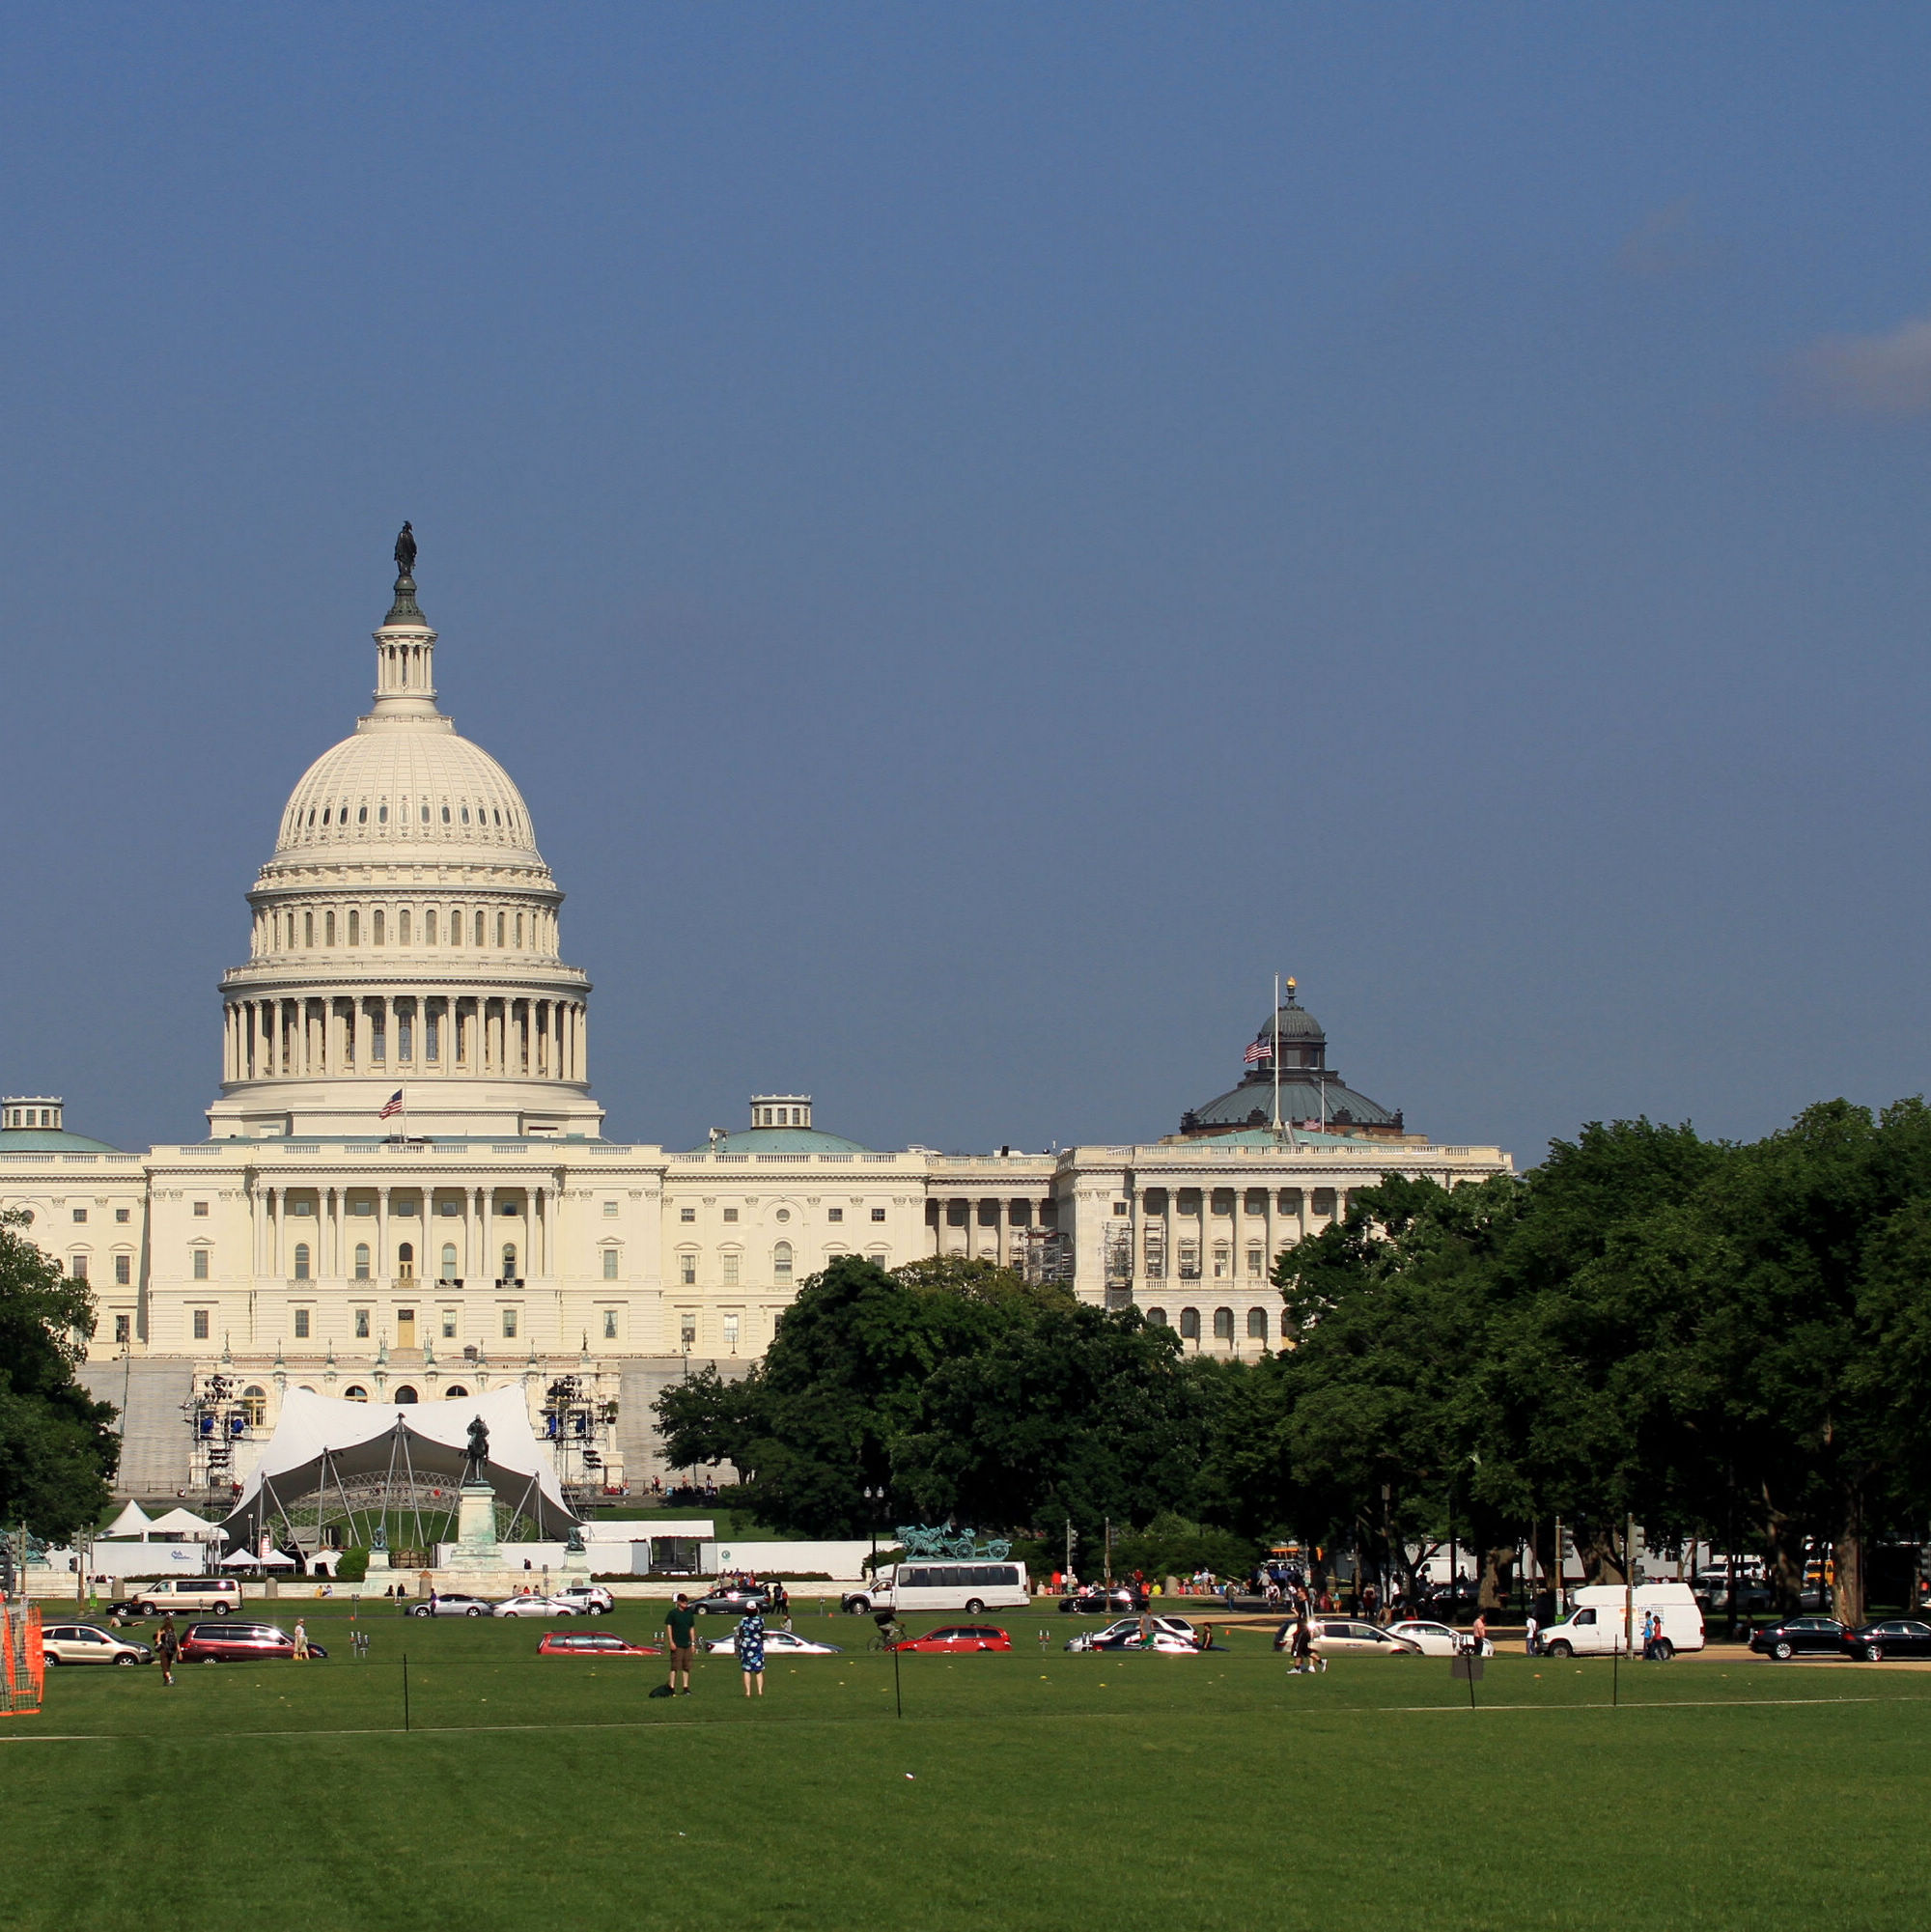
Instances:
[[[73,1379],[95,1331],[85,1281],[60,1271],[0,1211],[0,1520],[64,1540],[97,1522],[120,1461],[112,1403]]]

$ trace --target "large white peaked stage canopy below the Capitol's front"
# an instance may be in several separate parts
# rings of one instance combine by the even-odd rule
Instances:
[[[550,1447],[529,1426],[519,1383],[454,1403],[344,1403],[290,1389],[274,1435],[249,1472],[222,1528],[251,1546],[301,1497],[334,1484],[380,1476],[462,1480],[469,1424],[489,1430],[483,1480],[498,1501],[521,1507],[541,1536],[562,1536],[577,1519],[564,1501]]]

